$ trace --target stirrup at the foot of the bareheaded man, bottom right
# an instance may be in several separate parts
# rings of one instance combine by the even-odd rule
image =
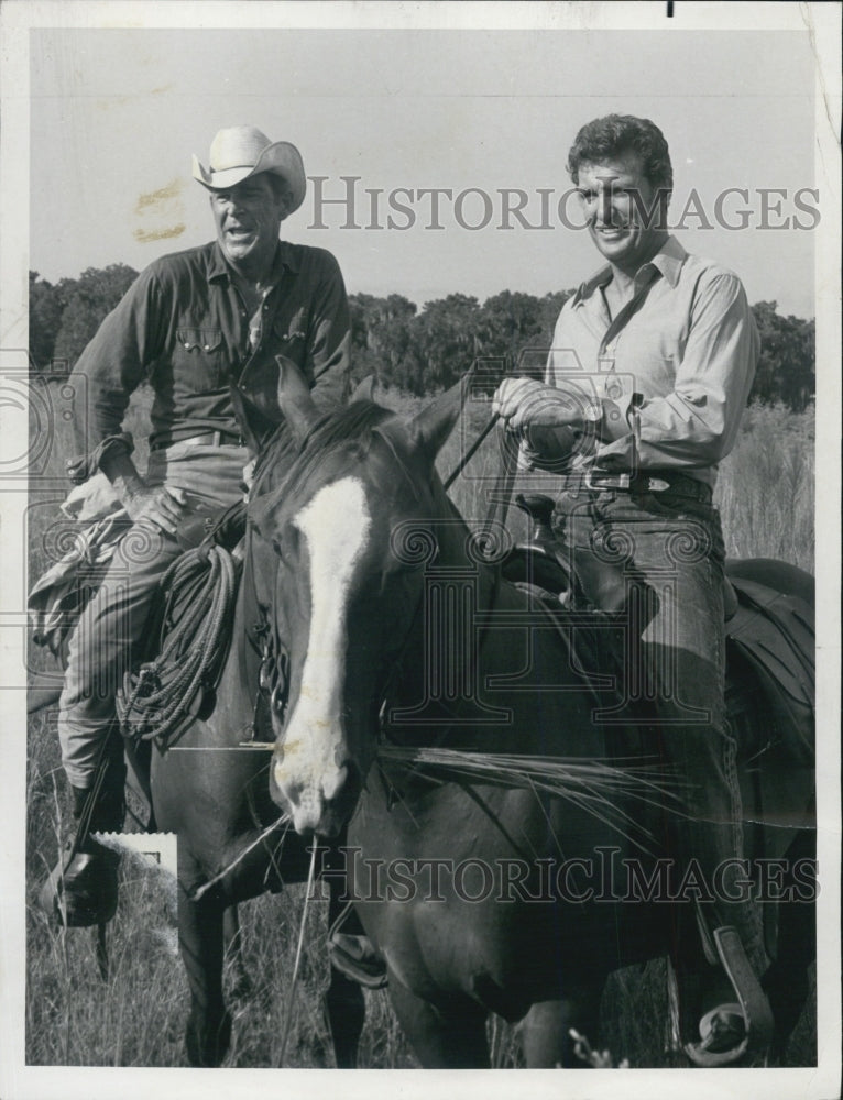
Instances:
[[[736,1003],[720,1004],[700,1021],[699,1043],[685,1050],[697,1066],[729,1066],[740,1058],[764,1058],[773,1040],[769,1001],[746,958],[741,937],[731,926],[713,933],[718,956],[737,997]]]

